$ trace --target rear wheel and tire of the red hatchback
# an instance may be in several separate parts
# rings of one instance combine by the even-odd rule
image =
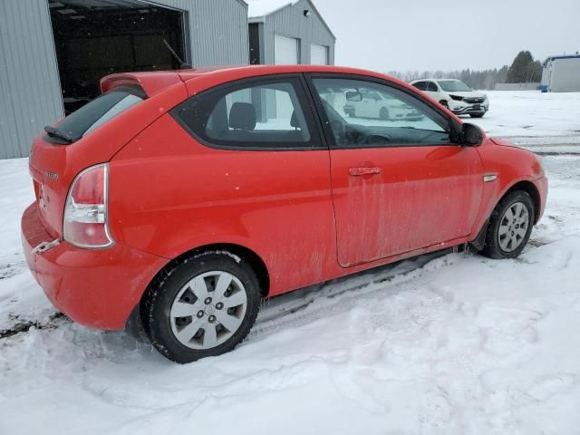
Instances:
[[[244,260],[224,252],[198,253],[156,278],[142,305],[150,343],[184,364],[230,352],[246,338],[256,322],[260,287]]]

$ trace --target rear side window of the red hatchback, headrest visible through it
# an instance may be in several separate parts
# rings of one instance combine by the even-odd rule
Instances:
[[[227,85],[202,92],[172,111],[199,140],[246,148],[309,147],[304,98],[294,79]]]

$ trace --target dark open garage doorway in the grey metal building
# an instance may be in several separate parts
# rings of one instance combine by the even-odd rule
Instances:
[[[183,11],[137,0],[48,3],[67,115],[101,93],[99,80],[107,74],[173,70],[179,59],[188,62]]]

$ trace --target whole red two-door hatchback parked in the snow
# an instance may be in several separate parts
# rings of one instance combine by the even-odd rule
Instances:
[[[534,154],[379,73],[244,66],[101,85],[34,140],[24,253],[75,322],[142,323],[176,362],[233,349],[263,297],[466,243],[513,258],[546,203]],[[344,111],[370,93],[388,116]]]

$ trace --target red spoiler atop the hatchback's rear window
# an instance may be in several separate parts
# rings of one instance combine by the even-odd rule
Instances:
[[[172,71],[150,73],[117,73],[101,79],[101,92],[109,92],[111,89],[123,85],[139,86],[148,97],[164,91],[165,89],[180,83],[179,73]]]

